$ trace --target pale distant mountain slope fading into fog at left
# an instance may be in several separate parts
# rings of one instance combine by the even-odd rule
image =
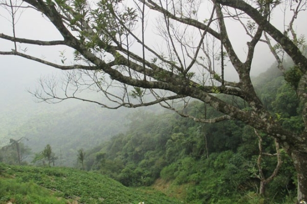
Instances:
[[[18,91],[17,91],[18,92]],[[77,150],[91,149],[127,130],[127,115],[137,111],[161,110],[160,107],[109,110],[97,104],[67,100],[59,104],[34,103],[31,94],[19,91],[0,101],[0,147],[21,137],[34,153],[50,144],[56,165],[75,166]],[[28,159],[31,161],[32,157]]]

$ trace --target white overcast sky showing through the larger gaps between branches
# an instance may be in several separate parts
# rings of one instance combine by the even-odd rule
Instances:
[[[2,1],[2,0],[0,0]],[[12,27],[6,19],[8,14],[5,14],[4,9],[0,8],[0,33],[12,35]],[[305,26],[306,12],[300,14],[297,18],[296,29],[298,34],[306,34],[307,27]],[[273,16],[273,21],[278,28],[282,28],[282,15],[280,11]],[[152,23],[152,19],[148,20]],[[148,26],[149,33],[153,27]],[[248,39],[238,24],[228,20],[228,31],[230,39],[239,56],[245,56],[246,40]],[[61,39],[59,33],[54,29],[53,25],[44,19],[41,14],[36,11],[29,10],[22,13],[17,25],[16,35],[19,38],[40,39],[40,40],[56,40]],[[157,42],[156,42],[157,43]],[[0,39],[0,50],[10,51],[13,47],[12,42]],[[27,47],[27,54],[33,54],[38,57],[50,60],[51,62],[60,63],[59,53],[65,51],[68,59],[72,59],[71,50],[63,46],[56,47],[41,47],[22,45],[21,49]],[[267,45],[259,43],[256,46],[255,58],[253,61],[252,74],[257,75],[265,71],[274,63],[274,58],[270,54]],[[16,56],[1,56],[0,55],[0,104],[8,104],[10,101],[16,100],[22,96],[23,101],[29,100],[35,103],[31,94],[26,92],[27,88],[35,88],[37,80],[41,76],[60,75],[62,71],[52,67],[42,65],[37,62],[26,60]],[[232,75],[233,70],[226,68],[226,75]],[[22,101],[20,101],[22,103]],[[5,106],[2,106],[2,109]],[[1,107],[0,107],[1,110]]]

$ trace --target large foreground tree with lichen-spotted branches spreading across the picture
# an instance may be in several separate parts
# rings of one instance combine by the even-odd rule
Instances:
[[[25,5],[1,2],[11,13],[13,28],[11,36],[0,34],[0,38],[13,42],[12,50],[1,51],[1,55],[19,56],[72,70],[67,72],[62,86],[52,79],[41,79],[42,89],[32,92],[37,98],[49,103],[76,98],[112,109],[160,104],[199,122],[241,120],[275,138],[291,156],[297,171],[298,202],[307,200],[307,59],[301,52],[304,38],[294,30],[295,20],[306,10],[305,0],[249,3],[243,0],[24,0]],[[200,8],[209,11],[206,13]],[[274,21],[279,20],[273,18],[280,10],[277,8],[281,8],[285,16],[279,18],[284,25],[281,31],[274,25],[278,24]],[[18,9],[34,9],[41,13],[63,39],[18,38],[15,32]],[[152,16],[158,18],[154,32],[146,26]],[[245,60],[239,57],[231,41],[231,22],[242,25],[246,33]],[[153,37],[153,34],[157,35]],[[151,43],[153,39],[159,42],[157,46]],[[294,88],[303,105],[301,116],[305,129],[302,132],[294,133],[282,127],[254,90],[250,72],[259,43],[268,45],[282,72],[286,73],[282,63],[286,54],[296,66],[292,75],[298,81]],[[19,44],[65,45],[74,49],[74,62],[67,65],[68,58],[61,52],[61,63],[53,63],[32,56],[27,48],[17,49]],[[226,65],[227,69],[233,67],[237,82],[227,81]],[[287,79],[293,82],[293,77]],[[111,103],[82,98],[78,93],[84,89],[101,93]],[[241,98],[247,107],[241,109],[218,97],[221,94]],[[190,98],[203,101],[221,115],[195,117],[174,106],[181,100],[186,107]]]

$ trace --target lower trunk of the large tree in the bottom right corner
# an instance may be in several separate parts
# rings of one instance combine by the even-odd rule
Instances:
[[[297,172],[297,203],[307,201],[307,153],[293,150],[291,157]]]

